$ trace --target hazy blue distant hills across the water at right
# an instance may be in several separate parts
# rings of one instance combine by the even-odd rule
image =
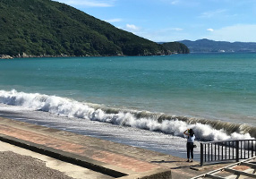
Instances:
[[[199,39],[196,41],[179,41],[186,45],[192,53],[209,52],[256,52],[256,43],[253,42],[226,42],[209,39]]]

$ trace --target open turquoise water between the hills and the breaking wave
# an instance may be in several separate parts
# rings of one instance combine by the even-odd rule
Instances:
[[[0,60],[0,90],[256,126],[256,54]]]

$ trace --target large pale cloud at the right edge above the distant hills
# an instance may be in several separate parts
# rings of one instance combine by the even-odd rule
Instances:
[[[206,38],[230,42],[256,42],[255,31],[256,24],[236,24],[214,30]]]

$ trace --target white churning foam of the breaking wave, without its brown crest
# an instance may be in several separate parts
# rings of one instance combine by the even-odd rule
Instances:
[[[152,117],[136,117],[133,112],[118,111],[107,114],[102,108],[94,108],[70,98],[47,96],[38,93],[24,93],[16,90],[0,90],[0,103],[20,106],[32,110],[41,110],[55,115],[77,117],[108,124],[131,126],[149,131],[166,132],[175,136],[183,136],[183,132],[192,128],[197,139],[201,141],[224,141],[236,139],[252,139],[249,133],[233,132],[226,134],[224,129],[216,130],[208,124],[187,124],[180,120],[158,120]],[[115,110],[116,111],[116,110]],[[138,113],[140,113],[138,111]]]

